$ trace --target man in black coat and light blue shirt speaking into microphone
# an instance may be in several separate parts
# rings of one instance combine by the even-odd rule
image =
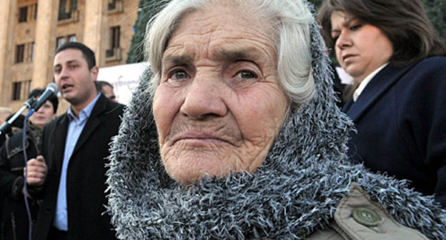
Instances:
[[[124,106],[96,91],[94,53],[69,42],[56,50],[54,79],[71,105],[44,129],[43,156],[28,163],[43,199],[33,239],[115,239],[106,211],[105,165]]]

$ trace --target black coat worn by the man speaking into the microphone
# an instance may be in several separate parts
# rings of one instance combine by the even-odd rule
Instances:
[[[104,214],[106,159],[109,143],[118,134],[124,106],[101,95],[74,148],[66,176],[67,239],[115,239],[110,216]],[[59,116],[44,129],[43,152],[48,165],[43,201],[33,239],[46,239],[53,226],[57,191],[69,119]]]

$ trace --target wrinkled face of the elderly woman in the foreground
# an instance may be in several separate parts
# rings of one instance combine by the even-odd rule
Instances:
[[[256,171],[287,111],[272,33],[239,12],[188,14],[162,57],[154,119],[164,167],[184,184]]]

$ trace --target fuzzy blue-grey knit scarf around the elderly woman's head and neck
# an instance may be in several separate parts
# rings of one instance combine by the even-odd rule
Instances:
[[[346,161],[352,123],[337,109],[317,24],[311,25],[316,96],[292,106],[255,174],[206,177],[188,188],[159,156],[147,71],[111,147],[109,214],[119,239],[303,239],[332,221],[356,182],[400,224],[446,239],[446,211],[432,196]]]

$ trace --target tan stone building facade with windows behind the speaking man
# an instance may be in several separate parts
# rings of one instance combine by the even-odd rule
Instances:
[[[31,89],[52,82],[55,50],[66,41],[80,41],[93,49],[99,67],[125,64],[138,3],[139,0],[0,1],[0,106],[18,110]],[[61,101],[59,113],[67,106],[66,101]]]

